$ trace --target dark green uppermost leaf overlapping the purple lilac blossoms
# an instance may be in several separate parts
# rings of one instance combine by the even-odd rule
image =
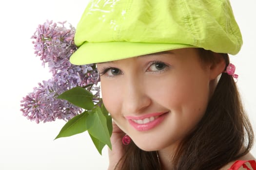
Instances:
[[[67,90],[58,96],[58,99],[67,100],[68,102],[87,110],[91,110],[94,107],[92,98],[92,93],[79,86]]]

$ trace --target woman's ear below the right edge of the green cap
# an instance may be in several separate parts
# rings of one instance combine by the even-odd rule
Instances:
[[[226,62],[219,53],[214,53],[214,62],[210,66],[210,80],[214,80],[226,68]]]

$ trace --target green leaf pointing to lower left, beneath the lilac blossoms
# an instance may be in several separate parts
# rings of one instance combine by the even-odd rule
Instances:
[[[86,125],[86,119],[88,117],[87,112],[83,112],[74,118],[70,119],[60,130],[59,135],[55,138],[59,137],[67,137],[82,133],[88,129],[89,126]]]

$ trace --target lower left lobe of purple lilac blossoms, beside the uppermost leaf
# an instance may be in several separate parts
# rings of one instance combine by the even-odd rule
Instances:
[[[67,87],[58,85],[53,79],[39,83],[32,93],[29,93],[21,101],[23,116],[30,120],[54,121],[58,119],[68,120],[82,112],[82,109],[65,100],[56,99]]]

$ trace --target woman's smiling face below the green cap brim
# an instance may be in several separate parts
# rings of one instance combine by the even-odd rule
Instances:
[[[215,78],[210,64],[203,64],[193,48],[97,67],[105,107],[119,128],[145,151],[172,147],[197,125]]]

